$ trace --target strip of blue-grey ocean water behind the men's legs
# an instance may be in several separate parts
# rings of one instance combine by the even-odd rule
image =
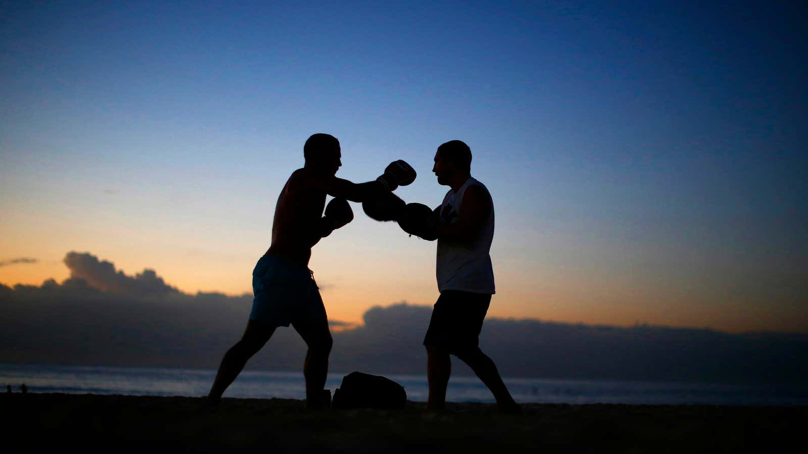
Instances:
[[[19,393],[128,394],[189,396],[208,394],[213,369],[124,368],[53,364],[0,364],[0,385]],[[339,388],[347,372],[329,372],[326,388]],[[410,401],[427,400],[427,377],[388,375],[404,386]],[[613,380],[548,380],[505,378],[518,402],[633,405],[806,406],[808,388],[778,385],[718,385]],[[225,397],[305,398],[302,372],[245,371]],[[493,402],[477,377],[452,376],[448,401]]]

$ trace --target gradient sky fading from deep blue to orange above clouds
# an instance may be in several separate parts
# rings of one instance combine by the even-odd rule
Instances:
[[[490,314],[808,332],[798,2],[0,2],[0,283],[70,250],[250,292],[314,132],[353,181],[461,139],[496,210]],[[436,299],[435,243],[356,221],[330,317]],[[17,259],[36,259],[36,263]]]

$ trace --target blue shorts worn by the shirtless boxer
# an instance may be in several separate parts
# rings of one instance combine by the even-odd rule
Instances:
[[[271,326],[326,322],[326,307],[308,268],[264,255],[253,270],[250,320]]]

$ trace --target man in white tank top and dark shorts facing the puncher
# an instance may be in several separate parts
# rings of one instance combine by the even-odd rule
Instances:
[[[456,355],[491,390],[503,412],[520,407],[508,393],[494,361],[479,347],[482,321],[494,294],[494,270],[489,254],[494,238],[494,202],[486,187],[471,176],[471,149],[462,141],[438,147],[438,183],[451,187],[437,226],[436,274],[440,297],[432,310],[423,345],[427,348],[429,400],[427,410],[444,410],[446,387]]]

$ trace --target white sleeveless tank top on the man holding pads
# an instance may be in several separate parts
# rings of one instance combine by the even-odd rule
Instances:
[[[454,224],[460,216],[465,190],[471,186],[482,187],[491,200],[491,212],[477,238],[473,242],[450,242],[438,238],[438,290],[461,290],[463,292],[494,294],[494,267],[491,266],[491,241],[494,239],[494,200],[482,183],[469,177],[457,192],[449,191],[440,205],[440,222]]]

